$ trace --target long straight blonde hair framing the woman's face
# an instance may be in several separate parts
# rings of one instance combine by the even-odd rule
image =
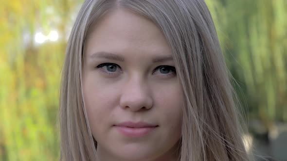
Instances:
[[[61,161],[96,161],[82,92],[85,40],[113,8],[142,15],[163,32],[184,93],[180,161],[247,161],[214,22],[204,0],[86,0],[68,42],[60,91]]]

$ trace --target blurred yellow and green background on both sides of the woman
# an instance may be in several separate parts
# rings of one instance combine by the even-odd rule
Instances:
[[[57,161],[60,74],[83,0],[1,0],[0,161]],[[206,0],[257,161],[287,161],[287,0]]]

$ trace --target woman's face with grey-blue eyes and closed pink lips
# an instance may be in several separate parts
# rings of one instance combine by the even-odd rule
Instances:
[[[85,48],[84,101],[101,161],[173,161],[182,89],[160,29],[130,11],[103,16]]]

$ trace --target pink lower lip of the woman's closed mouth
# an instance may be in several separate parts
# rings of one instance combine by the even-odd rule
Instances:
[[[149,134],[157,127],[145,127],[145,128],[129,128],[129,127],[120,127],[115,126],[115,128],[122,134],[127,137],[141,137]]]

